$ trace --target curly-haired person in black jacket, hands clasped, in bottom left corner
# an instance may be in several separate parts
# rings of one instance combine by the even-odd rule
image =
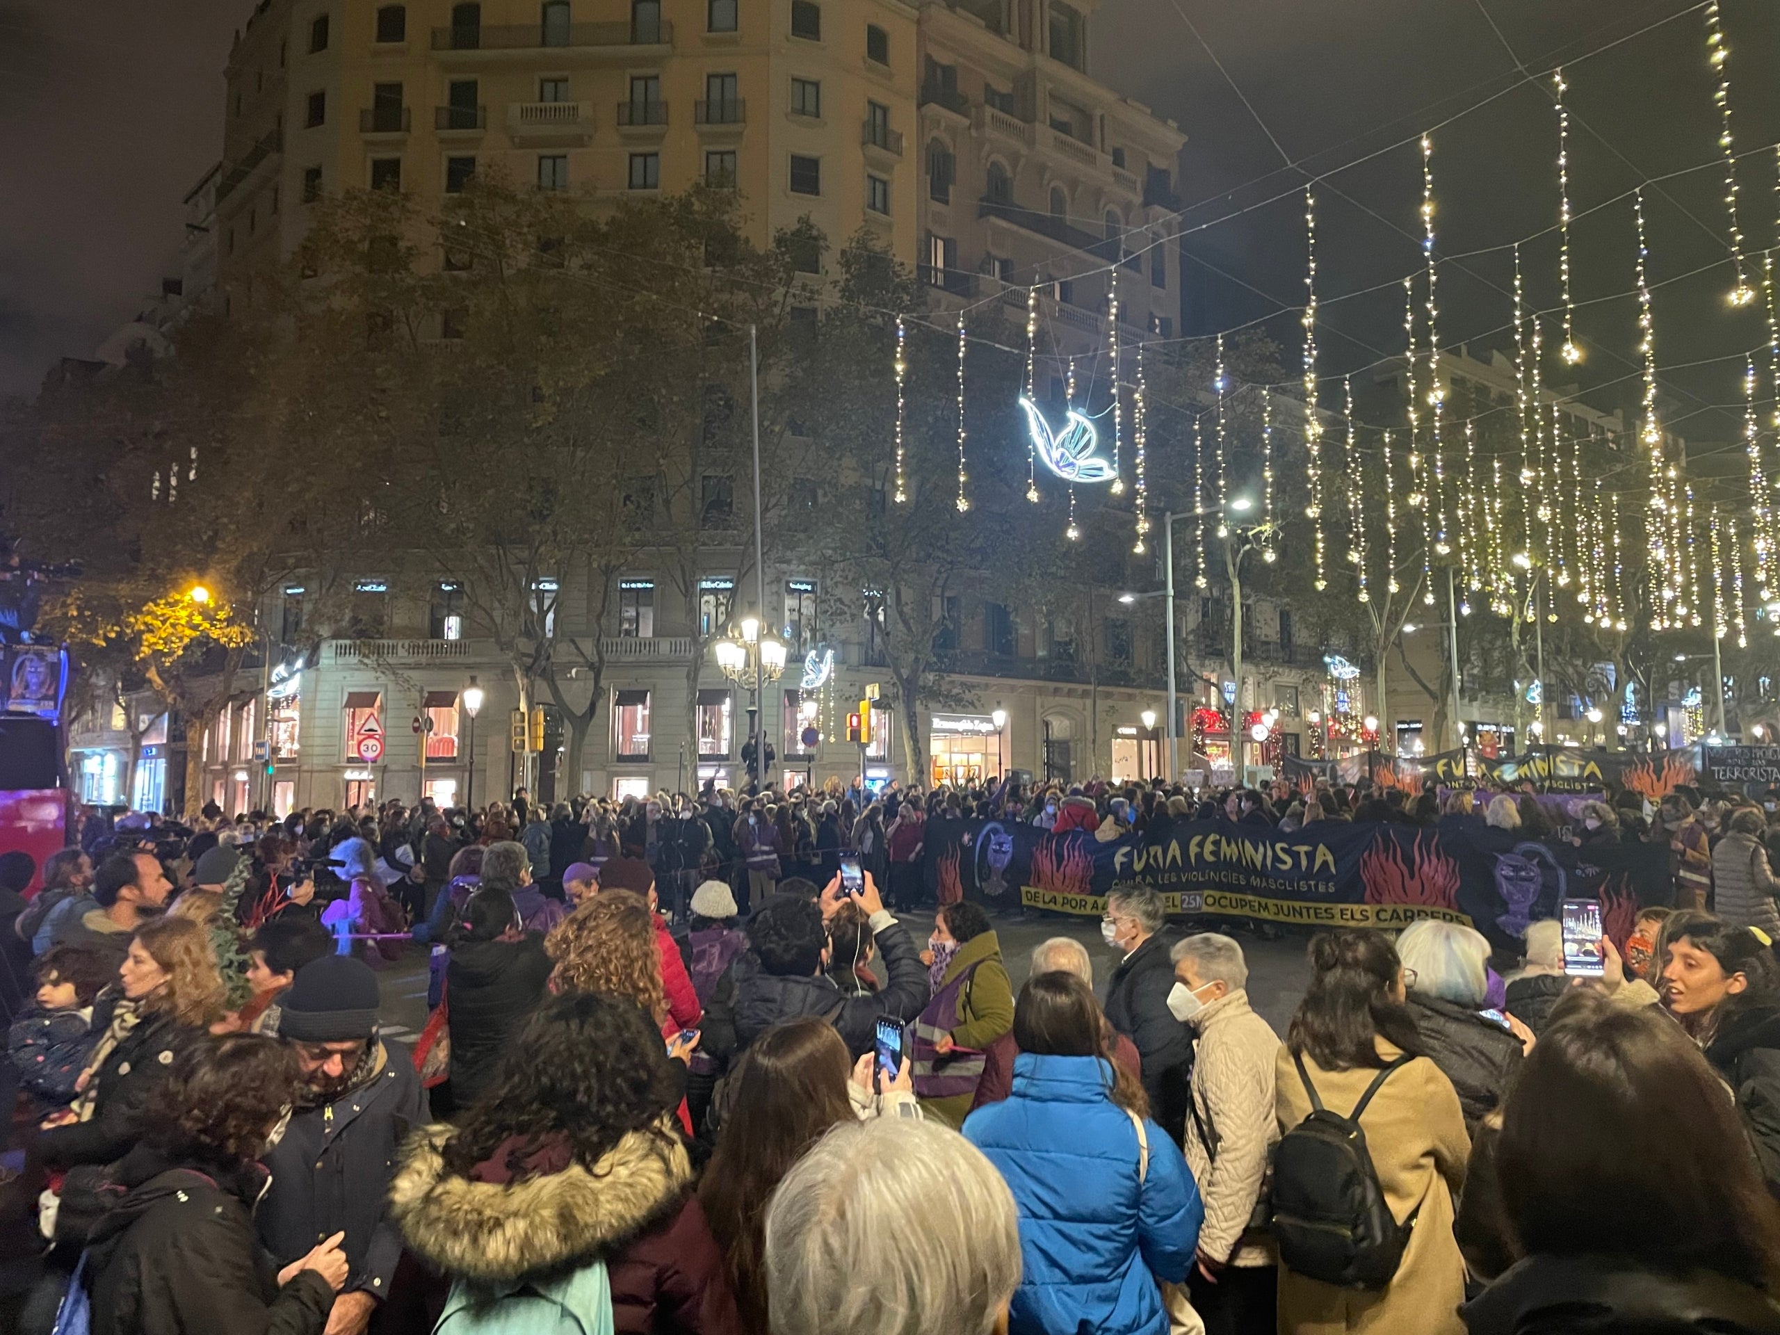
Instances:
[[[276,1269],[253,1230],[256,1162],[301,1084],[274,1038],[205,1038],[150,1096],[144,1139],[110,1169],[123,1198],[87,1242],[94,1335],[320,1335],[345,1283],[340,1235]]]

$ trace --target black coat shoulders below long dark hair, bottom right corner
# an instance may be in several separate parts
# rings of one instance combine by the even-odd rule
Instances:
[[[1527,1257],[1458,1312],[1470,1335],[1780,1335],[1759,1289],[1611,1257]]]

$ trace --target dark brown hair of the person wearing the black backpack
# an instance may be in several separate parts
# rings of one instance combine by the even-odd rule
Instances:
[[[1326,1072],[1383,1066],[1378,1040],[1420,1054],[1415,1016],[1390,995],[1403,972],[1397,947],[1371,927],[1310,938],[1310,986],[1285,1031],[1292,1056]]]

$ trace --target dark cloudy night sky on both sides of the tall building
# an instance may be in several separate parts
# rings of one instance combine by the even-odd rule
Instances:
[[[158,288],[180,242],[180,199],[221,144],[221,69],[249,11],[251,0],[0,0],[0,393],[34,390],[57,356],[91,354]],[[1780,139],[1780,5],[1723,0],[1723,21],[1746,153]],[[1588,351],[1577,377],[1600,408],[1636,404],[1636,304],[1622,295],[1632,288],[1630,201],[1586,210],[1643,178],[1700,167],[1646,192],[1657,354],[1675,367],[1664,370],[1670,425],[1728,443],[1741,429],[1741,360],[1680,367],[1741,358],[1764,340],[1759,310],[1723,304],[1732,271],[1703,32],[1693,0],[1107,0],[1093,20],[1091,71],[1189,135],[1184,333],[1301,303],[1298,190],[1305,171],[1328,173],[1319,342],[1324,372],[1347,372],[1401,351],[1392,279],[1419,263],[1420,153],[1410,142],[1335,169],[1502,93],[1435,132],[1438,251],[1550,228],[1550,80],[1511,85],[1517,62],[1543,73],[1563,61],[1570,199],[1582,215],[1572,230]],[[1773,150],[1744,157],[1739,182],[1759,276],[1760,253],[1776,244]],[[1529,240],[1524,262],[1533,304],[1556,306],[1556,231]],[[1716,267],[1661,287],[1702,265]],[[1509,281],[1506,249],[1442,265],[1442,342],[1508,349]],[[1290,363],[1296,317],[1267,328]]]

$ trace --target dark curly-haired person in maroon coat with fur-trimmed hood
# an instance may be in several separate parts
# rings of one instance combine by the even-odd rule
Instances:
[[[461,1125],[415,1137],[390,1187],[409,1250],[452,1282],[447,1314],[500,1303],[514,1328],[566,1310],[591,1330],[609,1310],[623,1335],[739,1331],[673,1132],[678,1096],[641,1007],[550,999]]]

